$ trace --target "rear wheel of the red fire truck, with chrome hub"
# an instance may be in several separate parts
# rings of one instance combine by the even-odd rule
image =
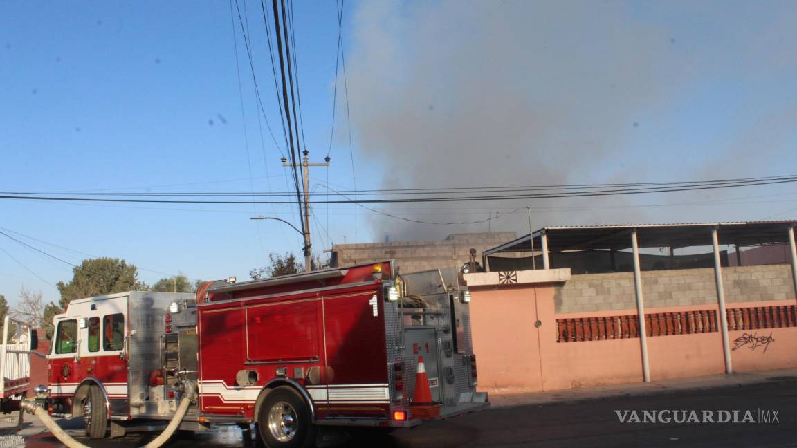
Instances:
[[[269,448],[308,448],[316,442],[316,425],[307,403],[286,386],[266,395],[257,413],[257,431]]]

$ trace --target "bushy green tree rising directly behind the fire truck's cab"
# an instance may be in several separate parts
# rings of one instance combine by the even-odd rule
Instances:
[[[146,283],[139,281],[139,269],[119,258],[84,260],[72,272],[72,281],[59,281],[57,285],[61,291],[60,305],[63,309],[69,302],[82,297],[149,289]]]

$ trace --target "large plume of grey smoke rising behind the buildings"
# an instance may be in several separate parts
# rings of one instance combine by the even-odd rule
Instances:
[[[708,14],[710,8],[693,12]],[[697,80],[721,78],[734,56],[713,56],[700,43],[689,51],[678,49],[672,29],[635,14],[622,2],[362,2],[347,49],[352,123],[361,156],[387,167],[383,187],[389,188],[717,177],[722,173],[708,172],[701,160],[694,170],[662,173],[656,166],[662,155],[647,155],[634,138],[650,125],[651,111],[668,105]],[[755,43],[748,44],[741,57],[752,57],[749,50],[755,49]],[[748,62],[756,63],[756,57]],[[772,63],[787,64],[783,58]],[[736,166],[740,174],[749,174],[744,163]],[[673,221],[671,210],[549,210],[633,201],[613,197],[387,208],[426,221],[471,221],[486,218],[489,210],[530,205],[535,228]],[[434,214],[414,214],[419,208]],[[681,216],[693,221],[693,211]],[[396,239],[488,228],[379,216],[372,224],[376,238],[387,233]],[[525,210],[490,228],[528,230]]]

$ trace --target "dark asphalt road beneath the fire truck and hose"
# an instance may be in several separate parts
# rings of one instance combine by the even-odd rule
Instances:
[[[779,411],[772,423],[621,423],[615,410],[732,411],[759,409]],[[79,422],[70,422],[74,428]],[[80,430],[73,430],[80,434]],[[131,434],[91,446],[139,446],[148,439]],[[86,442],[81,439],[82,442]],[[49,434],[28,439],[28,446],[57,445]],[[256,446],[245,442],[241,430],[227,426],[211,434],[183,434],[171,448],[202,446]],[[355,438],[342,446],[797,446],[797,378],[768,383],[723,387],[700,391],[667,392],[661,395],[615,397],[577,403],[553,403],[504,407],[457,419],[429,422],[412,430],[397,430],[389,436]]]

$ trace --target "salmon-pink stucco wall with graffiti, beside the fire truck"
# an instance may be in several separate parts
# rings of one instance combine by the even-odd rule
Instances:
[[[556,315],[560,284],[494,285],[471,289],[473,348],[483,389],[552,391],[613,383],[641,382],[639,338],[556,342],[557,317],[635,314],[636,309]],[[785,301],[736,302],[728,308],[787,305]],[[791,305],[791,301],[788,305]],[[646,308],[646,312],[717,310],[717,305]],[[540,321],[537,328],[534,323]],[[745,333],[771,336],[769,344],[732,350],[734,371],[797,367],[797,328],[728,332],[731,348]],[[651,380],[724,373],[721,333],[648,336]],[[755,343],[753,343],[755,344]],[[766,352],[764,352],[766,348]]]

